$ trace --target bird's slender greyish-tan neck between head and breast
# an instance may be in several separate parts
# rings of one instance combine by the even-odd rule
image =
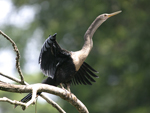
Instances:
[[[97,30],[97,28],[104,22],[105,20],[100,20],[99,16],[93,21],[93,23],[89,26],[89,28],[87,29],[85,35],[84,35],[84,45],[82,47],[82,49],[80,50],[80,52],[84,55],[84,57],[86,58],[92,47],[93,47],[93,40],[92,37],[95,33],[95,31]],[[84,59],[85,59],[84,58]]]

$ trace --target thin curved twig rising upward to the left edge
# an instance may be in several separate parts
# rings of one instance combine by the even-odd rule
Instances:
[[[20,62],[19,62],[19,59],[20,59],[20,53],[19,53],[19,50],[17,48],[17,45],[15,44],[15,42],[9,37],[7,36],[4,32],[2,32],[0,30],[0,34],[2,34],[8,41],[10,41],[10,43],[12,43],[12,46],[14,48],[14,51],[16,52],[16,68],[18,70],[18,73],[20,75],[20,78],[21,78],[21,83],[22,84],[25,84],[24,83],[24,77],[23,77],[23,74],[22,74],[22,71],[20,69]]]

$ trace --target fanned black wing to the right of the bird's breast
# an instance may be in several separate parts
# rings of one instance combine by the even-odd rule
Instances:
[[[91,82],[95,82],[93,77],[98,78],[98,76],[95,75],[94,72],[98,73],[86,62],[83,62],[82,66],[80,67],[80,69],[77,71],[77,73],[73,77],[71,83],[75,84],[75,85],[76,84],[92,85]]]

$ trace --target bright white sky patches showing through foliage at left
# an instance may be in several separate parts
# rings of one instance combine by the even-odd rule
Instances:
[[[31,6],[23,6],[17,11],[11,0],[0,0],[0,11],[0,30],[7,24],[25,28],[34,20],[36,13],[35,8]],[[3,37],[0,36],[0,38]],[[37,43],[35,42],[33,44],[35,48],[32,48],[32,51],[35,51],[35,54],[39,54],[36,50]],[[30,45],[31,43],[27,45],[27,51]],[[35,58],[31,52],[28,52],[28,56],[26,57],[29,59],[25,66],[25,70],[28,70],[28,74],[33,73],[33,70],[34,72],[39,70],[38,58]],[[0,72],[10,76],[16,75],[15,53],[11,50],[0,49]],[[4,78],[0,76],[0,80],[2,79]]]

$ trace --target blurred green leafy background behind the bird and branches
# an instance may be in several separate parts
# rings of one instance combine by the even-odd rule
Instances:
[[[3,2],[2,2],[3,1]],[[8,2],[6,18],[0,29],[17,44],[21,53],[21,68],[28,83],[43,80],[38,55],[49,34],[57,33],[61,47],[76,51],[83,45],[83,36],[92,21],[102,13],[122,10],[108,19],[93,37],[94,47],[86,62],[99,71],[92,86],[72,86],[72,92],[87,106],[90,113],[149,113],[150,111],[150,15],[147,0],[1,0]],[[4,54],[6,53],[7,54]],[[3,56],[3,57],[2,57]],[[15,53],[11,44],[0,36],[0,71],[18,77]],[[8,65],[7,65],[8,63]],[[11,65],[13,68],[11,67]],[[12,71],[9,69],[12,68]],[[7,74],[6,73],[6,74]],[[7,79],[3,79],[8,82]],[[11,81],[10,81],[11,82]],[[20,100],[24,94],[0,91],[0,97]],[[77,113],[68,102],[50,96],[67,113]],[[33,113],[0,103],[1,113]],[[38,100],[38,113],[57,113],[51,105]]]

